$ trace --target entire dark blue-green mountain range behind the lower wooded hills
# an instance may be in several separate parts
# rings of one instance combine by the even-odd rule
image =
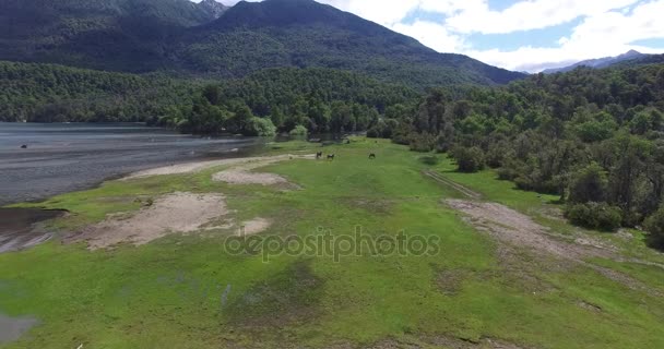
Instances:
[[[228,10],[213,0],[0,0],[0,25],[1,60],[119,72],[242,77],[265,68],[331,68],[417,88],[524,76],[438,53],[312,0]]]

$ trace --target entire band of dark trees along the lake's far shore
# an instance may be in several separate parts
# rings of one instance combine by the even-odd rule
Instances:
[[[332,69],[211,82],[0,61],[0,121],[147,122],[199,134],[365,131],[393,106],[419,98]]]

